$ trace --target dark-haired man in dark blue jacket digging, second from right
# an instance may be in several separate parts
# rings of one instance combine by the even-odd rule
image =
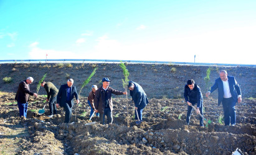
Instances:
[[[186,100],[186,103],[188,105],[187,107],[187,125],[189,125],[189,121],[190,121],[190,116],[191,116],[191,110],[192,107],[191,105],[195,105],[197,104],[197,110],[196,113],[201,113],[201,115],[203,115],[202,112],[202,92],[199,86],[197,86],[197,84],[195,84],[194,80],[190,79],[187,81],[187,84],[185,86],[184,89],[184,98]],[[200,126],[204,126],[204,120],[202,119],[202,117],[200,117]]]

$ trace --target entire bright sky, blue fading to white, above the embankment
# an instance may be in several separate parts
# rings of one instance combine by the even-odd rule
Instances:
[[[256,1],[0,0],[0,60],[256,64]]]

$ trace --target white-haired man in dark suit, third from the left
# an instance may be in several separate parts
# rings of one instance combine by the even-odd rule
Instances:
[[[73,107],[73,98],[79,103],[77,89],[73,86],[73,79],[68,79],[67,84],[60,86],[58,95],[57,95],[57,104],[56,107],[64,107],[65,110],[65,122],[69,123],[72,117],[72,107]]]

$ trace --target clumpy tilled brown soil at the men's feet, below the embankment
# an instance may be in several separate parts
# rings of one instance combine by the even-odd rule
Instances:
[[[255,99],[237,104],[235,126],[224,126],[222,107],[206,99],[204,116],[211,123],[201,127],[195,112],[191,125],[186,124],[184,99],[149,99],[143,122],[136,125],[134,104],[115,98],[113,124],[101,125],[98,117],[89,120],[86,97],[67,124],[62,108],[53,118],[47,117],[48,105],[43,115],[37,114],[43,96],[31,97],[27,119],[20,118],[14,95],[0,95],[1,154],[232,154],[237,148],[256,154]]]

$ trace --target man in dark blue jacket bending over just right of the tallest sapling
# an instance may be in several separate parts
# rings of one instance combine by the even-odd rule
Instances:
[[[135,103],[135,120],[138,120],[138,117],[142,121],[142,112],[143,108],[148,104],[148,98],[146,97],[146,93],[140,84],[136,82],[129,81],[128,89],[130,90],[130,95]],[[138,117],[136,115],[136,110],[138,112]]]

